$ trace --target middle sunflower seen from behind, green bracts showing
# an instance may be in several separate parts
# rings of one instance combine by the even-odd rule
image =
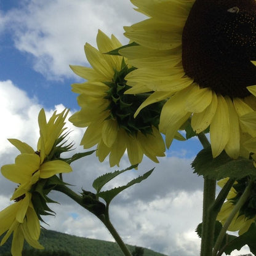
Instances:
[[[131,164],[142,161],[143,154],[155,162],[164,156],[165,145],[158,130],[162,102],[145,108],[137,118],[134,113],[148,95],[125,95],[130,88],[124,77],[134,68],[118,55],[104,54],[121,47],[113,35],[108,38],[98,31],[97,46],[86,44],[86,57],[92,68],[71,66],[74,73],[86,79],[73,84],[79,94],[81,110],[71,116],[74,126],[87,127],[81,145],[90,148],[97,145],[97,156],[103,161],[110,154],[110,166],[119,165],[127,150]]]

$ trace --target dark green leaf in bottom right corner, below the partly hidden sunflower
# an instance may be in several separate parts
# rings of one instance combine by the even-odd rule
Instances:
[[[225,246],[225,254],[231,254],[233,250],[240,250],[243,246],[248,245],[250,252],[256,254],[256,224],[255,222],[250,225],[249,230],[236,237]]]

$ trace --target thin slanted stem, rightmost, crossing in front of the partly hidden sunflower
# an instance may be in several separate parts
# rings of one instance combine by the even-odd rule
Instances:
[[[222,245],[222,241],[223,241],[223,238],[226,235],[226,231],[228,230],[228,227],[230,226],[230,223],[232,222],[234,216],[239,212],[241,207],[246,202],[247,198],[250,196],[250,192],[252,190],[253,184],[254,184],[254,180],[251,179],[250,182],[249,182],[249,185],[246,187],[246,190],[244,190],[244,193],[242,193],[241,198],[239,199],[237,204],[234,206],[234,209],[232,210],[231,214],[226,219],[226,222],[223,225],[222,230],[220,231],[220,234],[218,235],[217,241],[215,242],[214,251],[212,253],[213,256],[217,256],[217,255],[222,254],[222,252],[220,252],[221,254],[218,254],[218,250],[220,249],[220,247]]]

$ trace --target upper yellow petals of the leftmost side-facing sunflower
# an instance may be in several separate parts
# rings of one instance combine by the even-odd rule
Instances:
[[[65,138],[62,136],[63,126],[68,111],[64,110],[60,114],[54,112],[52,117],[46,122],[46,115],[42,109],[38,116],[40,134],[38,140],[38,150],[15,138],[10,138],[12,143],[21,154],[15,158],[14,164],[6,164],[1,167],[1,173],[8,180],[20,184],[15,190],[11,199],[22,196],[25,191],[30,191],[31,186],[38,182],[39,178],[50,178],[55,174],[71,172],[70,164],[65,161],[55,159],[55,151],[58,150],[59,142]],[[69,150],[70,145],[62,149]],[[54,159],[51,159],[54,158]]]

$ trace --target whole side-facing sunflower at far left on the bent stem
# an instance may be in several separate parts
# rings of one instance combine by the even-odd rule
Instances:
[[[10,200],[14,200],[14,204],[0,212],[0,236],[6,233],[0,245],[2,246],[13,233],[11,248],[13,256],[22,256],[24,240],[30,246],[44,249],[38,242],[40,235],[39,218],[41,219],[40,214],[46,215],[48,214],[46,211],[50,211],[49,207],[46,206],[46,203],[50,201],[48,201],[46,194],[41,194],[42,199],[40,201],[36,200],[38,192],[36,192],[37,197],[35,198],[33,191],[43,193],[42,183],[37,190],[38,183],[43,179],[46,180],[55,174],[72,171],[70,164],[56,159],[60,153],[70,150],[72,146],[72,144],[65,145],[63,142],[66,136],[63,134],[65,130],[63,126],[67,113],[67,110],[60,114],[54,112],[47,122],[44,110],[40,111],[38,117],[40,137],[36,151],[25,142],[14,138],[9,139],[9,142],[20,151],[20,154],[15,158],[15,164],[2,166],[1,173],[12,182],[18,183],[18,188],[10,198]],[[59,145],[59,143],[61,144]]]

